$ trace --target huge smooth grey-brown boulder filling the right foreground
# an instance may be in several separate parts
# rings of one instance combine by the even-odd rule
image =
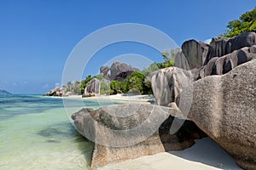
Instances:
[[[223,76],[193,82],[192,88],[181,92],[183,96],[193,96],[189,119],[244,169],[256,169],[255,75],[256,59],[253,59]],[[186,101],[190,99],[179,101],[181,111],[190,105]]]

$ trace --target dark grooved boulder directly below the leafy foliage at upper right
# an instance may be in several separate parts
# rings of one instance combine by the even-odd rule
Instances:
[[[207,64],[212,57],[221,57],[235,50],[256,45],[256,33],[249,31],[232,38],[215,37],[212,38],[211,44],[212,46],[205,64]]]

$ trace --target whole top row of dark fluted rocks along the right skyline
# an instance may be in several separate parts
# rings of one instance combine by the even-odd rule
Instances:
[[[197,42],[195,40],[189,40],[183,42],[181,53],[176,55],[177,64],[175,66],[183,68],[184,70],[194,69],[207,65],[207,63],[214,57],[222,57],[227,54],[239,50],[241,48],[250,48],[256,45],[256,33],[244,32],[236,37],[216,37],[212,38],[211,45],[204,42]],[[255,52],[248,52],[255,53]],[[184,61],[183,56],[187,59],[187,63]]]

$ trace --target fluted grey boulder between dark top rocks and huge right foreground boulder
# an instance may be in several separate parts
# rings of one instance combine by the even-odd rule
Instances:
[[[252,59],[256,59],[256,45],[235,50],[231,54],[226,54],[222,57],[213,57],[207,65],[201,67],[199,78],[210,75],[223,75],[234,69],[237,65]]]

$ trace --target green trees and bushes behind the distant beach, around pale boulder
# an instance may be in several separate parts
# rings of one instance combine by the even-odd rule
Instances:
[[[67,85],[65,86],[65,93],[71,92],[72,94],[84,94],[84,88],[93,78],[96,78],[102,81],[100,89],[101,94],[153,94],[150,82],[151,73],[166,67],[173,66],[175,56],[179,51],[179,48],[164,51],[162,53],[164,62],[154,62],[143,71],[135,71],[131,74],[131,76],[126,77],[124,82],[113,80],[110,82],[110,86],[108,86],[106,82],[102,81],[104,79],[102,74],[96,75],[94,77],[88,76],[85,77],[85,79],[81,82],[67,82]]]

